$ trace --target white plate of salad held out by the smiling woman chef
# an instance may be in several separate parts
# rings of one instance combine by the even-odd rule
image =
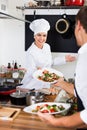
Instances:
[[[63,77],[63,74],[52,68],[43,68],[37,70],[33,77],[43,82],[55,83],[60,77]]]

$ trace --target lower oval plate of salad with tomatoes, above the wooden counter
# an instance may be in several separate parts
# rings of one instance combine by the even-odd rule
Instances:
[[[23,109],[24,112],[37,114],[37,112],[49,113],[49,114],[61,114],[67,112],[71,107],[69,103],[57,103],[57,102],[42,102],[27,106]]]

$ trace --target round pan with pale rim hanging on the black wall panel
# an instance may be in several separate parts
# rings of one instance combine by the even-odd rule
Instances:
[[[70,27],[70,21],[67,18],[67,15],[63,14],[62,18],[58,19],[58,21],[55,24],[56,31],[59,34],[65,34],[68,32],[69,27]]]

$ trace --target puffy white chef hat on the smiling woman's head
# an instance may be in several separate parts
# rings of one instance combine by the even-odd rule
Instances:
[[[34,35],[40,32],[47,33],[50,29],[50,24],[47,20],[41,18],[36,19],[30,23],[30,29],[34,32]]]

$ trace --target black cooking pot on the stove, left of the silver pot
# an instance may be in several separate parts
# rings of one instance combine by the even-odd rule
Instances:
[[[14,105],[26,105],[26,94],[23,92],[14,92],[10,94],[10,100]]]

